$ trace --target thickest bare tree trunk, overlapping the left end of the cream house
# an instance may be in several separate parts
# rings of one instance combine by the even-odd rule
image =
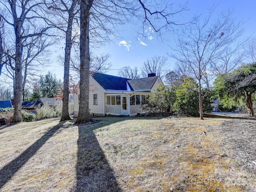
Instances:
[[[93,0],[82,0],[80,2],[80,104],[75,124],[92,121],[89,112],[89,20],[92,3]]]

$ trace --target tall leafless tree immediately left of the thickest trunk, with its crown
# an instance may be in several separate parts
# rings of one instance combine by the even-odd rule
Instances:
[[[64,57],[64,82],[63,82],[63,97],[62,97],[62,114],[60,121],[70,120],[68,113],[68,99],[69,99],[69,76],[70,76],[70,55],[72,44],[78,36],[78,25],[76,15],[78,14],[78,0],[44,0],[48,7],[48,15],[50,19],[47,20],[48,25],[57,28],[65,36],[65,57]]]

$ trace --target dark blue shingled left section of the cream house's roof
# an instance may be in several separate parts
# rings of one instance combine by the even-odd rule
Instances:
[[[122,90],[127,91],[127,85],[130,87],[130,90],[133,90],[132,87],[127,83],[127,78],[94,73],[92,77],[105,89],[105,90]]]

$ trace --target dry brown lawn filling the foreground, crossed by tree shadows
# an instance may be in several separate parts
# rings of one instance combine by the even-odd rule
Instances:
[[[248,115],[59,120],[0,127],[0,191],[256,192]]]

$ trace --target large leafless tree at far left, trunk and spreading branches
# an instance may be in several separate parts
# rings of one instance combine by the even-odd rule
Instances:
[[[44,25],[44,19],[40,16],[38,6],[40,0],[7,0],[0,1],[7,16],[0,16],[4,21],[13,27],[15,35],[15,93],[14,93],[14,119],[13,122],[21,122],[22,102],[22,54],[23,40],[33,36],[44,36],[49,26]]]

